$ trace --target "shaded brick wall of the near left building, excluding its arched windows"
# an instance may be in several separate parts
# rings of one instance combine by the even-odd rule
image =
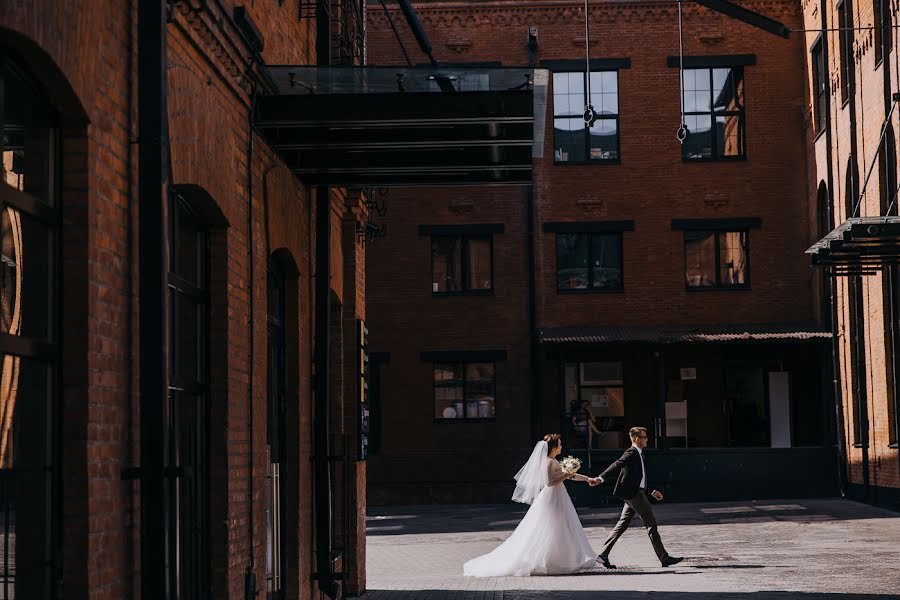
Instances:
[[[204,3],[206,12],[195,12],[190,3],[176,3],[167,28],[172,183],[214,207],[228,224],[211,231],[209,244],[210,593],[243,598],[251,556],[257,588],[265,593],[266,261],[274,254],[288,273],[291,303],[286,589],[289,598],[311,598],[317,593],[309,583],[316,216],[308,189],[258,137],[248,165],[249,52],[228,21],[235,4]],[[268,63],[315,60],[314,22],[298,18],[296,0],[255,2],[247,10],[265,38]],[[123,469],[140,462],[137,25],[135,5],[108,0],[40,0],[0,15],[0,40],[46,86],[64,129],[60,467],[65,597],[140,595],[138,485],[121,478]],[[252,202],[247,190],[251,169]],[[334,203],[332,254],[341,265],[343,197],[336,195]],[[341,270],[334,272],[340,297]],[[355,288],[352,294],[350,304],[362,306],[364,290]],[[335,427],[340,431],[342,423]],[[355,486],[365,481],[364,465],[354,464],[353,472]],[[355,531],[363,514],[360,499],[351,514]],[[364,570],[359,573],[357,587],[362,588]]]

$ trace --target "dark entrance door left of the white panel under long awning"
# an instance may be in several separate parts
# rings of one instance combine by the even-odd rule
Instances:
[[[725,399],[729,446],[768,446],[769,410],[765,370],[761,367],[725,368]]]

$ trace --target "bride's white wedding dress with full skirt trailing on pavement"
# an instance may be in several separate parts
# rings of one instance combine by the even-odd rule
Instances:
[[[544,442],[546,448],[546,442]],[[562,467],[544,452],[546,481],[558,480]],[[528,467],[523,467],[523,471]],[[520,471],[521,473],[521,471]],[[518,477],[517,477],[518,479]],[[518,488],[517,488],[518,492]],[[517,499],[513,496],[513,499]],[[519,500],[522,501],[522,500]],[[525,500],[527,502],[527,500]],[[490,554],[463,566],[469,577],[563,575],[594,566],[591,548],[565,485],[543,485],[516,530]]]

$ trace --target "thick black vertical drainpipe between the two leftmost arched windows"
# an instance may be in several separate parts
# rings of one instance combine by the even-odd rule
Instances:
[[[141,597],[170,598],[166,548],[168,124],[166,3],[138,6]]]

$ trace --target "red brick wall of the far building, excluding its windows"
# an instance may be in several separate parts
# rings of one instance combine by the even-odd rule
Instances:
[[[741,4],[789,27],[802,25],[795,2]],[[582,3],[459,1],[415,7],[435,57],[444,63],[527,65],[530,28],[537,28],[537,61],[584,60]],[[804,255],[814,241],[809,221],[815,195],[807,175],[803,38],[780,39],[684,4],[686,55],[756,57],[755,65],[744,67],[747,159],[686,163],[675,137],[678,70],[667,66],[667,57],[678,54],[676,11],[672,2],[591,3],[591,58],[630,59],[630,68],[618,76],[620,164],[554,164],[548,99],[544,157],[535,161],[533,176],[538,328],[810,322],[818,316],[812,290],[819,282]],[[427,63],[402,14],[392,16],[412,62]],[[403,64],[380,11],[369,13],[368,41],[370,63]],[[531,435],[535,363],[528,337],[524,196],[494,188],[391,190],[387,206],[388,236],[372,246],[367,265],[373,349],[390,353],[382,373],[383,452],[370,461],[370,501],[505,499],[501,494],[508,493],[508,485],[498,484],[505,478],[500,474],[518,467]],[[731,217],[762,222],[750,232],[751,289],[687,291],[683,232],[672,229],[672,220]],[[543,232],[543,223],[615,220],[633,220],[635,226],[623,234],[624,291],[557,293],[556,237]],[[432,297],[428,238],[416,234],[416,225],[488,222],[505,226],[494,236],[495,295]],[[431,365],[419,352],[484,346],[505,348],[509,355],[498,363],[496,422],[433,423]],[[545,368],[539,427],[553,428],[559,384],[552,365]],[[417,487],[401,485],[410,471],[417,473]]]

